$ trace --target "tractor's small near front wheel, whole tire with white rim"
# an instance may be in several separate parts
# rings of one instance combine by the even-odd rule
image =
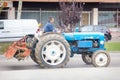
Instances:
[[[98,50],[92,55],[94,67],[107,67],[110,64],[110,55],[104,50]]]

